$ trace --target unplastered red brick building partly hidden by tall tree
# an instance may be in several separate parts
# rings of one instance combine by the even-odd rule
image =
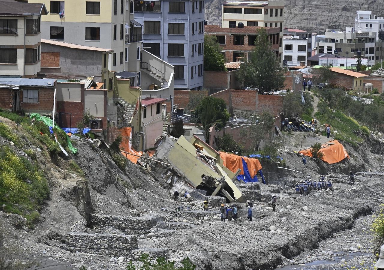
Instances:
[[[205,33],[214,35],[225,53],[225,62],[249,59],[249,52],[255,48],[257,31],[262,27],[244,26],[243,28],[223,28],[217,25],[205,25]],[[272,49],[279,55],[280,28],[264,27],[271,41]]]

